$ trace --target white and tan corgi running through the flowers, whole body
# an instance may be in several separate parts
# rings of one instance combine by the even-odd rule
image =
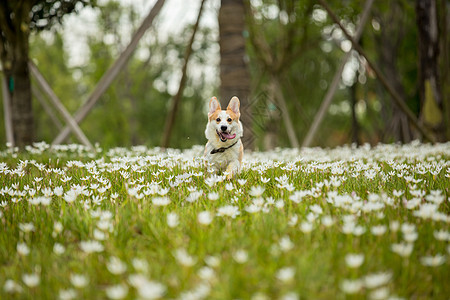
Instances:
[[[241,171],[244,156],[239,106],[238,97],[231,98],[226,110],[221,109],[216,97],[209,100],[205,164],[211,165],[216,171],[225,171],[228,180]]]

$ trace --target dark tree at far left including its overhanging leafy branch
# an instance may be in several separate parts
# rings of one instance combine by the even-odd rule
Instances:
[[[29,37],[60,23],[62,17],[95,0],[21,0],[0,2],[0,61],[11,98],[13,135],[17,146],[33,142],[34,120],[28,70]]]

